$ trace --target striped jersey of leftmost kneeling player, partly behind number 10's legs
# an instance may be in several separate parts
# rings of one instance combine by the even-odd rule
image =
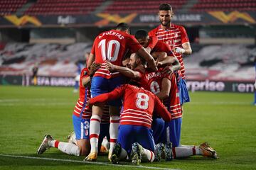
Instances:
[[[81,115],[84,119],[90,119],[92,116],[92,110],[87,106],[87,102],[91,98],[90,86],[82,86],[82,79],[89,76],[88,69],[82,69],[80,74],[79,98],[73,111],[73,115],[77,117]],[[110,123],[109,106],[104,107],[101,123]]]

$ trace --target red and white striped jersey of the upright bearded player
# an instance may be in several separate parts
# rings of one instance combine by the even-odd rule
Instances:
[[[164,30],[161,28],[161,25],[157,28],[154,28],[149,32],[150,36],[156,36],[160,42],[165,42],[171,47],[171,50],[174,51],[174,47],[181,47],[185,42],[189,42],[188,35],[183,26],[177,26],[171,24],[169,30]],[[181,54],[174,52],[174,55],[177,57],[178,62],[181,63],[180,74],[182,79],[185,79],[185,67],[183,63],[183,58]]]

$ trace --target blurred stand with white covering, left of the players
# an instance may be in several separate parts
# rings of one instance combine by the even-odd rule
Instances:
[[[89,52],[90,48],[90,43],[7,43],[0,50],[0,74],[31,74],[33,65],[38,63],[38,75],[75,77],[75,62],[85,60],[85,52]]]

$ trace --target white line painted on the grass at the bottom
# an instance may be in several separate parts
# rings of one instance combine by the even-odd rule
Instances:
[[[142,169],[161,169],[161,170],[179,170],[179,169],[168,169],[168,168],[160,168],[154,166],[132,166],[132,165],[121,165],[121,164],[107,164],[104,162],[85,162],[85,161],[78,161],[78,160],[71,160],[71,159],[54,159],[54,158],[46,158],[46,157],[25,157],[20,155],[11,155],[11,154],[0,154],[1,157],[15,157],[15,158],[24,158],[24,159],[41,159],[41,160],[48,160],[48,161],[57,161],[57,162],[76,162],[82,164],[100,164],[100,165],[107,165],[107,166],[120,166],[120,167],[132,167],[132,168],[142,168]]]

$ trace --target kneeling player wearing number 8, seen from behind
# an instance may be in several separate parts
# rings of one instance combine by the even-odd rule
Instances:
[[[118,154],[118,159],[127,157],[127,153],[134,152],[132,145],[138,143],[141,149],[139,154],[142,156],[142,161],[154,161],[154,139],[151,130],[151,121],[153,112],[160,115],[164,120],[170,121],[171,115],[164,107],[163,103],[150,91],[124,84],[110,93],[101,94],[95,98],[90,98],[90,104],[105,103],[122,97],[123,111],[120,114],[119,135],[117,143],[122,146],[121,153]],[[135,151],[136,152],[136,151]],[[136,153],[132,153],[136,154]],[[136,164],[139,164],[141,158],[132,157]],[[139,160],[138,160],[139,159]]]

